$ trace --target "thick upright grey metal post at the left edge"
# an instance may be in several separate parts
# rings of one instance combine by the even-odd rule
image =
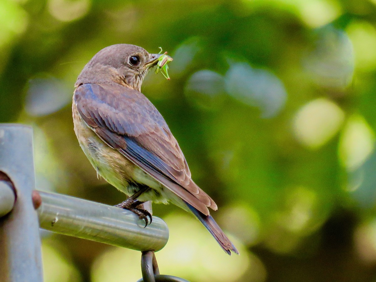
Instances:
[[[0,218],[0,281],[41,282],[42,259],[38,217],[32,203],[34,164],[32,128],[0,124],[0,174],[12,183],[16,201]]]

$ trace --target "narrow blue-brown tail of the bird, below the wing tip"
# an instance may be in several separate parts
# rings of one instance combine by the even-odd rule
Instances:
[[[194,215],[201,221],[201,223],[209,230],[211,235],[217,240],[218,244],[222,247],[222,249],[231,255],[231,251],[237,253],[239,252],[237,248],[232,244],[229,238],[227,238],[226,234],[223,233],[221,227],[215,222],[214,218],[211,215],[205,215],[202,212],[198,211],[196,208],[185,202],[188,208],[193,212]]]

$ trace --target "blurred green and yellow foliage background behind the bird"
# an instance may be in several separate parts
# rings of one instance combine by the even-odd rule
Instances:
[[[36,186],[125,199],[82,153],[71,97],[100,49],[174,58],[143,93],[241,255],[189,214],[162,274],[191,281],[376,281],[376,0],[0,0],[0,122],[34,129]],[[45,281],[135,281],[140,253],[43,233]]]

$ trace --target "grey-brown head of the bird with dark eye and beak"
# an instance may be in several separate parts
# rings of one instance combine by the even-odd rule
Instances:
[[[141,90],[144,77],[162,54],[149,54],[130,44],[116,44],[100,50],[83,68],[75,86],[84,83],[119,83]]]

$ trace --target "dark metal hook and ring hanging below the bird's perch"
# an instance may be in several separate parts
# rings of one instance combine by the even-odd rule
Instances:
[[[154,251],[144,251],[141,254],[142,278],[137,282],[189,282],[183,278],[159,274],[157,259]]]

